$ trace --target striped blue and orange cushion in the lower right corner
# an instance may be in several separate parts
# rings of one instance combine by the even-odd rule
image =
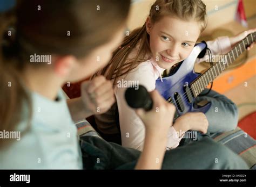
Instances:
[[[215,133],[212,138],[240,155],[251,169],[256,169],[256,141],[241,128],[237,127],[225,133]]]

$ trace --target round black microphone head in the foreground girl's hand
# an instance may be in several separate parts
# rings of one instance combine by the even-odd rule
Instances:
[[[135,88],[127,88],[125,91],[125,100],[127,104],[133,109],[143,108],[145,111],[149,111],[153,107],[153,100],[147,92],[147,89],[143,85],[139,85]]]

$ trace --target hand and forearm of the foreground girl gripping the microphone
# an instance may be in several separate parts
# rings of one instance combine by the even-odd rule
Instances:
[[[150,111],[137,109],[136,113],[145,125],[142,154],[135,169],[161,169],[166,151],[167,133],[172,126],[176,107],[154,90],[151,93],[153,107]]]

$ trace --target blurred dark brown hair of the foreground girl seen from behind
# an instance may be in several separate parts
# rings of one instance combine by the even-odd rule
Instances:
[[[20,81],[24,68],[33,66],[30,55],[84,57],[112,39],[129,8],[130,0],[21,0],[15,10],[2,13],[0,131],[14,131],[26,105],[31,116],[31,100]],[[0,147],[5,141],[0,139]]]

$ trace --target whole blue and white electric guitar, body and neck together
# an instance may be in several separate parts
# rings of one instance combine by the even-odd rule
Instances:
[[[239,42],[230,52],[226,54],[227,62],[215,63],[203,74],[194,72],[194,62],[198,55],[206,48],[206,44],[196,45],[191,54],[185,59],[175,74],[160,78],[156,81],[156,89],[169,103],[176,106],[177,112],[174,119],[186,112],[204,112],[211,107],[211,103],[199,107],[194,104],[196,98],[209,83],[221,74],[237,57],[256,40],[256,32],[248,34],[245,39]]]

